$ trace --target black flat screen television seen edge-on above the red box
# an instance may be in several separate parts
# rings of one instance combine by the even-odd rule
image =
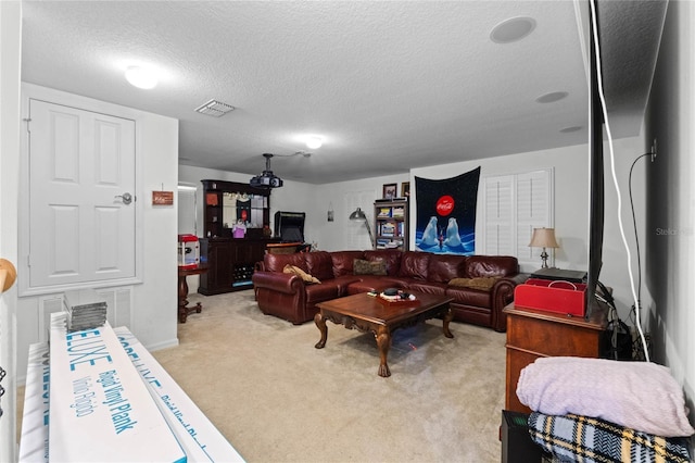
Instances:
[[[590,20],[593,15],[589,10]],[[596,16],[598,10],[596,5]],[[596,17],[598,24],[598,17]],[[599,57],[594,48],[593,22],[590,21],[590,52],[589,52],[589,266],[586,270],[585,316],[589,318],[598,304],[596,288],[603,266],[604,246],[604,215],[605,215],[605,184],[604,184],[604,117],[598,87],[601,73]],[[598,37],[598,32],[596,32]],[[601,43],[598,43],[601,45]]]

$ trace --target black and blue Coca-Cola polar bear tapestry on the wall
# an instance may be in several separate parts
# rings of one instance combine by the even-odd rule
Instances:
[[[476,252],[480,167],[442,180],[415,177],[415,249],[437,254]]]

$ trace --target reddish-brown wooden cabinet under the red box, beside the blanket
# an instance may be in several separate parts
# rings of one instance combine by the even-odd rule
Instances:
[[[541,356],[598,358],[601,335],[606,329],[606,310],[595,310],[589,320],[554,312],[504,308],[507,315],[507,376],[505,410],[530,413],[519,402],[517,383],[521,370]]]

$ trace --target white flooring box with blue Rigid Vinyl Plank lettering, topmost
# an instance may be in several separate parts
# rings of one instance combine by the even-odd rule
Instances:
[[[113,329],[51,314],[49,461],[177,462],[186,454]]]

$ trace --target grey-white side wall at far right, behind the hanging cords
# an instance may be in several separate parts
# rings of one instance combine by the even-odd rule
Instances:
[[[646,280],[654,298],[646,305],[653,360],[671,368],[691,410],[695,399],[694,24],[695,4],[669,2],[645,123],[646,142],[657,139],[657,158],[646,173],[644,229]]]

